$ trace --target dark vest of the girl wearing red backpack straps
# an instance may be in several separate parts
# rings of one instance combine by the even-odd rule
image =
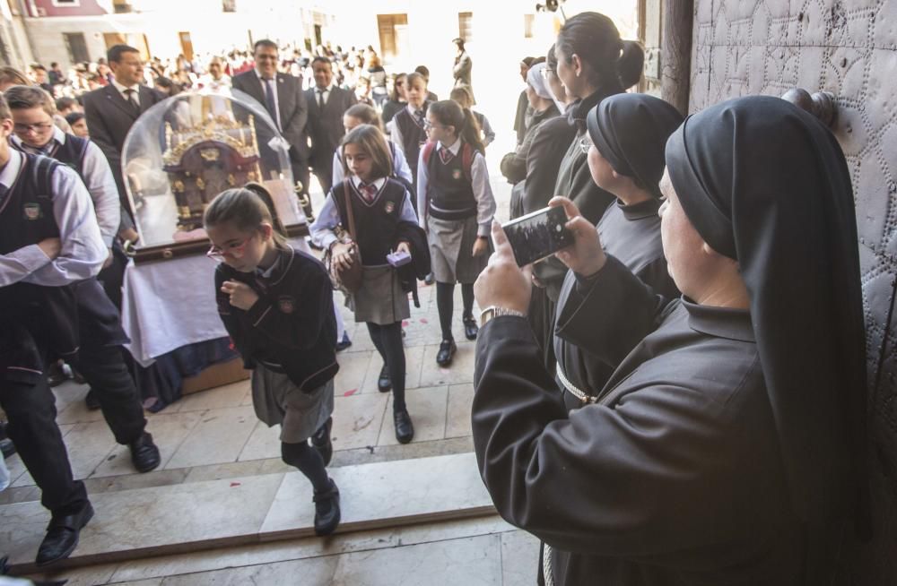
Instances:
[[[440,147],[441,149],[441,147]],[[448,163],[442,162],[440,149],[433,149],[427,162],[427,191],[431,202],[427,211],[437,220],[466,220],[476,215],[474,186],[464,169],[461,150]]]

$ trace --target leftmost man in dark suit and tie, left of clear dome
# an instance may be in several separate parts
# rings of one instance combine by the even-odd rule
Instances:
[[[109,48],[106,56],[115,77],[109,85],[84,95],[84,116],[87,118],[91,140],[97,143],[109,159],[122,209],[130,215],[130,218],[122,218],[123,225],[133,232],[134,210],[131,210],[127,202],[125,180],[121,172],[121,150],[125,145],[127,132],[131,130],[137,117],[161,102],[165,96],[161,91],[143,84],[144,64],[135,47],[115,45]],[[135,240],[136,232],[132,236],[128,239]]]

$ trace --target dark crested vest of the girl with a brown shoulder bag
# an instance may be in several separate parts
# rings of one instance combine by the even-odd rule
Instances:
[[[340,222],[348,229],[345,188],[346,182],[334,186],[334,200],[339,210]],[[388,178],[371,203],[365,201],[354,185],[350,185],[349,203],[352,205],[355,230],[358,232],[354,238],[361,249],[361,264],[387,264],[387,254],[396,246],[396,229],[401,221],[402,206],[405,205],[405,185]]]

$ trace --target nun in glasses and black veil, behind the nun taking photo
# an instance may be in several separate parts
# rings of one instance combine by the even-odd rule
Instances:
[[[640,93],[606,98],[586,116],[592,179],[617,197],[598,221],[601,246],[655,293],[669,298],[678,297],[679,291],[666,270],[660,243],[659,184],[666,140],[682,121],[668,102]],[[555,377],[568,409],[595,401],[614,372],[605,361],[566,340],[568,328],[575,337],[580,323],[591,322],[590,315],[579,311],[583,306],[579,298],[568,306],[576,282],[576,274],[568,271],[554,328]]]

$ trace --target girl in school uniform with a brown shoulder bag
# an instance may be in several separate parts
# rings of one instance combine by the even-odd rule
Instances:
[[[337,267],[353,263],[351,249],[357,243],[361,253],[361,289],[348,296],[347,305],[352,308],[356,323],[367,324],[370,340],[383,358],[378,388],[380,392],[392,389],[396,439],[407,444],[414,437],[414,426],[405,405],[402,320],[411,313],[399,271],[388,263],[387,255],[395,251],[419,257],[426,254],[426,245],[407,188],[390,177],[392,159],[379,128],[355,127],[345,135],[342,149],[346,178],[334,184],[310,229],[312,236],[331,251]],[[354,223],[354,242],[341,242],[336,231],[349,228],[350,218]]]

